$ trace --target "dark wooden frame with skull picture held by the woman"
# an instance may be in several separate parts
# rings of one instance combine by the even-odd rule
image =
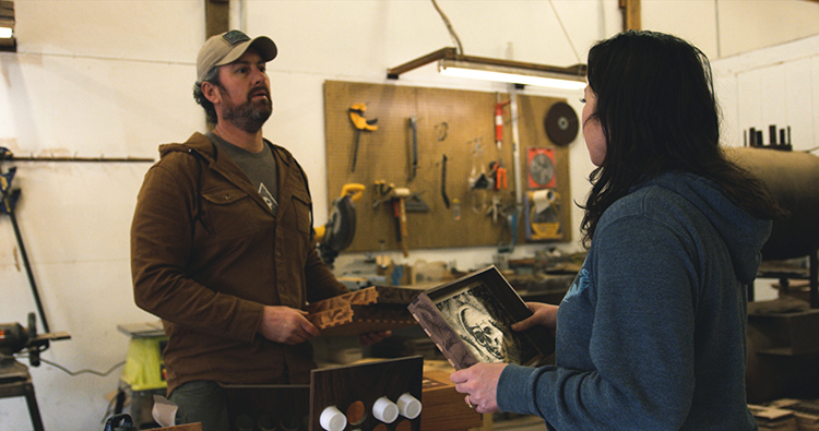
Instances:
[[[459,370],[477,362],[537,364],[555,351],[543,326],[512,331],[532,311],[495,266],[426,290],[408,308]]]

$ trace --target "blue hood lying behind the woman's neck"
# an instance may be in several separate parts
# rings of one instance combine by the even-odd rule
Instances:
[[[713,224],[731,253],[737,278],[749,284],[762,261],[762,246],[771,234],[771,222],[756,218],[734,204],[715,182],[686,172],[666,172],[634,189],[658,185],[691,202]]]

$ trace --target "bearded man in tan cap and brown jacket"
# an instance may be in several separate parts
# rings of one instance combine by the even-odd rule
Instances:
[[[304,170],[262,137],[276,53],[238,31],[207,39],[194,98],[215,128],[159,147],[131,227],[134,299],[163,319],[170,400],[205,431],[229,429],[218,383],[309,382],[319,331],[302,308],[347,291],[316,251]]]

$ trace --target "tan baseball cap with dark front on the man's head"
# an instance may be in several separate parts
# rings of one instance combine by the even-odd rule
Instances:
[[[197,56],[197,82],[202,82],[211,69],[238,60],[250,47],[253,47],[264,61],[273,60],[278,53],[276,44],[268,36],[251,39],[238,29],[211,36]]]

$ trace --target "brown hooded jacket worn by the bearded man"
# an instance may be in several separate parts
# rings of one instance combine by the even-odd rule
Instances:
[[[168,335],[168,394],[193,380],[307,383],[312,346],[257,334],[263,304],[302,309],[346,291],[316,251],[307,177],[286,149],[268,144],[276,214],[200,133],[162,145],[145,175],[131,226],[133,292]]]

